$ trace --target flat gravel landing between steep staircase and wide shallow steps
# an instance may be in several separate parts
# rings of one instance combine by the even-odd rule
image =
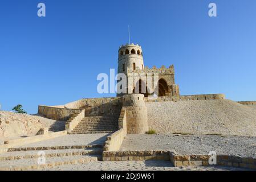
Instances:
[[[107,136],[110,134],[82,134],[82,135],[64,135],[62,137],[44,140],[42,142],[31,143],[17,147],[48,147],[48,146],[85,146],[88,144],[103,145]]]

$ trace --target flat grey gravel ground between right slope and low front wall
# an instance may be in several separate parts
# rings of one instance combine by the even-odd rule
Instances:
[[[256,137],[213,135],[127,135],[121,151],[175,150],[178,154],[209,154],[250,156],[256,158]]]

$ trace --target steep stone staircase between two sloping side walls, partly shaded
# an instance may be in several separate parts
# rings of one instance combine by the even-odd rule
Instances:
[[[84,117],[71,134],[113,133],[118,128],[119,115]]]

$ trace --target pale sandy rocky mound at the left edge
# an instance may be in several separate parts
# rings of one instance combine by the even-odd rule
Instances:
[[[0,144],[6,139],[33,136],[43,127],[53,127],[60,131],[64,130],[64,122],[38,115],[0,111]]]

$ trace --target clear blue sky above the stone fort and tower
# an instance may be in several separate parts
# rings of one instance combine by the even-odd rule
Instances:
[[[256,100],[255,7],[255,0],[1,1],[1,109],[22,104],[33,114],[38,105],[113,96],[97,93],[96,77],[117,68],[128,24],[145,65],[174,64],[181,94]]]

